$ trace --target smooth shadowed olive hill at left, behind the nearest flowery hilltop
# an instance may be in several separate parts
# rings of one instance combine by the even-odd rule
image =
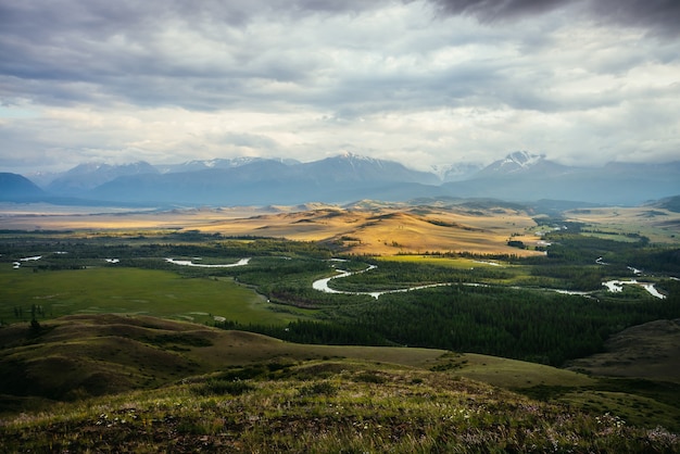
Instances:
[[[300,345],[148,316],[77,315],[0,329],[0,389],[10,395],[76,399],[154,388],[219,368],[275,360],[349,356],[427,367],[441,351]]]

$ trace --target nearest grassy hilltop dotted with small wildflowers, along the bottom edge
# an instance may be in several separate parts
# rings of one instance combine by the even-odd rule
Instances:
[[[259,373],[257,373],[259,370]],[[0,421],[3,452],[677,452],[677,434],[446,374],[305,362]],[[252,376],[252,375],[251,375]],[[625,398],[625,396],[622,396]]]

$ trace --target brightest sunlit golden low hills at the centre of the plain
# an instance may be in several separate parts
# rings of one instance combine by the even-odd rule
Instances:
[[[222,235],[253,235],[341,244],[350,253],[475,252],[533,255],[507,245],[517,231],[536,226],[526,214],[511,211],[469,215],[457,211],[408,209],[316,210],[214,222],[198,228]]]

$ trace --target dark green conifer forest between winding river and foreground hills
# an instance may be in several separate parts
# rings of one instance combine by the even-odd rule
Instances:
[[[680,283],[663,285],[666,300],[452,286],[333,305],[324,311],[324,321],[216,325],[291,342],[436,348],[561,366],[601,352],[612,333],[627,327],[680,317]]]

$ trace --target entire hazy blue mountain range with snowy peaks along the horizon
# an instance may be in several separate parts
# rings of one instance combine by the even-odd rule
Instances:
[[[20,185],[16,177],[0,178],[0,200],[67,197],[154,205],[268,205],[459,197],[633,205],[680,194],[680,162],[574,167],[526,151],[488,166],[453,163],[432,172],[345,152],[308,163],[264,157],[162,166],[87,163],[36,177],[35,185],[24,177]]]

